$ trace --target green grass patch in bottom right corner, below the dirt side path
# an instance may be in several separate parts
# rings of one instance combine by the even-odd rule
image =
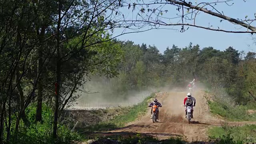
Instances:
[[[230,136],[236,142],[256,142],[256,125],[244,126],[221,126],[212,127],[209,129],[208,134],[210,137],[223,137]],[[224,137],[225,137],[224,136]]]

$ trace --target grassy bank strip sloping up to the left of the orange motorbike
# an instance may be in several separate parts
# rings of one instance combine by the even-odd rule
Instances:
[[[80,132],[95,132],[95,131],[108,131],[114,128],[120,128],[125,126],[128,122],[136,120],[138,117],[144,115],[148,110],[148,102],[151,98],[154,98],[155,93],[150,94],[142,102],[134,106],[126,106],[122,108],[121,114],[114,116],[110,120],[99,122],[98,124],[93,124],[86,126],[85,128],[80,128]],[[114,108],[112,110],[115,110]],[[112,112],[113,113],[113,112]],[[120,113],[120,112],[119,112]]]

